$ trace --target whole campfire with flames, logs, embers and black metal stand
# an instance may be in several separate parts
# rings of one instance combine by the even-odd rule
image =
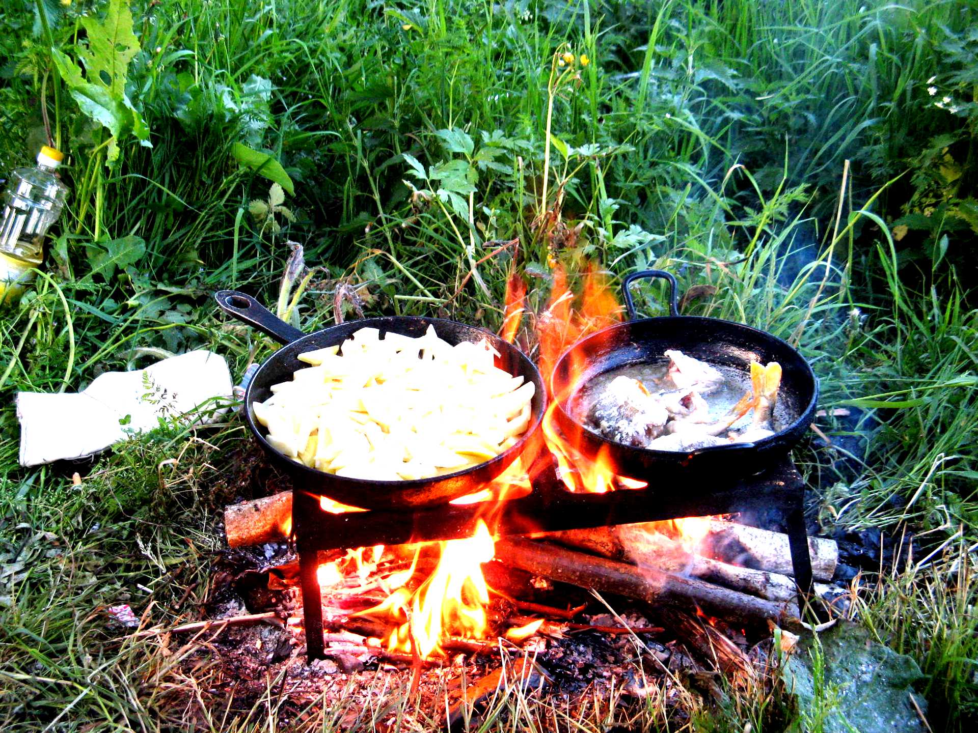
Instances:
[[[545,383],[558,363],[567,368],[572,344],[622,321],[599,272],[586,272],[580,289],[575,297],[557,270],[549,303],[533,315],[521,281],[507,288],[503,335],[524,339],[524,351],[538,344]],[[571,360],[569,368],[584,374],[590,365]],[[417,671],[459,654],[520,650],[546,660],[549,644],[590,630],[672,634],[719,668],[747,674],[745,629],[790,628],[844,602],[831,584],[838,549],[806,537],[804,484],[789,460],[711,480],[624,475],[613,451],[584,450],[556,418],[568,395],[550,397],[542,439],[527,441],[509,468],[466,496],[365,509],[299,481],[290,492],[226,507],[231,547],[294,548],[297,558],[287,552],[265,572],[269,587],[293,598],[300,591],[301,611],[284,603],[225,623],[285,620],[304,631],[297,653],[344,669],[373,659]],[[743,521],[771,510],[785,533]],[[588,615],[589,592],[632,599],[661,625],[643,615]]]

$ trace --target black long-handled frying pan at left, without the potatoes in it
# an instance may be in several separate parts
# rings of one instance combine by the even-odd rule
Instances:
[[[407,510],[420,506],[432,506],[466,496],[484,488],[505,471],[513,460],[526,450],[534,450],[541,443],[540,420],[546,408],[546,391],[537,367],[519,349],[489,331],[465,323],[445,319],[429,319],[414,316],[361,319],[339,323],[328,328],[305,334],[289,323],[276,318],[250,295],[235,290],[214,293],[217,305],[239,321],[267,333],[281,344],[255,372],[244,394],[244,411],[248,428],[255,439],[295,482],[296,489],[306,489],[314,494],[329,496],[350,506],[364,509]],[[334,476],[331,473],[309,468],[277,451],[268,442],[266,431],[255,419],[252,404],[264,402],[271,394],[273,384],[290,381],[296,369],[308,367],[297,357],[306,351],[335,346],[361,328],[379,328],[381,332],[401,333],[405,336],[422,336],[431,325],[435,333],[450,344],[463,341],[478,342],[483,338],[499,353],[496,366],[526,381],[533,382],[536,391],[530,403],[530,423],[526,432],[515,445],[494,458],[468,466],[454,473],[406,481],[374,481]]]

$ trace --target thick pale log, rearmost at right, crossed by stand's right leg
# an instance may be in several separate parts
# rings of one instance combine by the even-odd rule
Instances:
[[[788,536],[779,532],[712,521],[705,542],[718,559],[784,575],[793,572]],[[817,581],[831,581],[839,561],[835,540],[809,538],[808,551],[812,557],[812,577]]]

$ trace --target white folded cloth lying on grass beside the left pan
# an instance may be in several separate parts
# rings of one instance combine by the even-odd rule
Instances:
[[[224,357],[192,351],[145,369],[108,371],[77,394],[19,392],[21,465],[102,451],[158,427],[160,417],[212,421],[227,410],[231,389]]]

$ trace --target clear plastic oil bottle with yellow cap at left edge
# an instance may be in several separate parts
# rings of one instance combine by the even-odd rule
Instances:
[[[55,169],[65,153],[44,146],[33,168],[17,168],[0,214],[0,305],[16,302],[44,259],[44,236],[61,214],[67,186]]]

